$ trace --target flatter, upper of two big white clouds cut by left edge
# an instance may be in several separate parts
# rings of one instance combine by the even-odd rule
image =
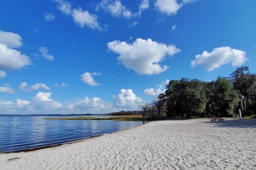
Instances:
[[[9,47],[20,47],[23,45],[20,35],[11,32],[4,32],[3,30],[0,30],[0,43]]]

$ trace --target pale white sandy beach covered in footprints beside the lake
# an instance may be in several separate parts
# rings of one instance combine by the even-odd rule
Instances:
[[[7,162],[14,157],[20,159]],[[0,169],[256,169],[256,120],[150,122],[55,148],[0,154]]]

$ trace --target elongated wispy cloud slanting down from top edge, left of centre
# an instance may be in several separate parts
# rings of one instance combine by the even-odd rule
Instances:
[[[64,14],[72,16],[74,22],[78,24],[81,28],[84,26],[90,27],[92,29],[98,29],[103,31],[103,28],[98,22],[98,16],[95,14],[89,13],[87,10],[83,10],[81,7],[77,9],[71,9],[71,4],[64,0],[55,0],[57,2],[57,9],[62,11]]]

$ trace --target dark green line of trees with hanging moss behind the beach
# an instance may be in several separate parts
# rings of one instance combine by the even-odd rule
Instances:
[[[167,117],[221,116],[236,117],[256,114],[256,74],[249,67],[237,68],[229,77],[214,81],[181,78],[171,80],[165,93],[152,103],[139,105],[139,111],[120,111],[107,115],[143,115],[152,119]]]

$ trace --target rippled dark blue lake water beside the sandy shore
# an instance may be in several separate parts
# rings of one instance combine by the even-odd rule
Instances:
[[[45,120],[44,117],[64,116],[0,116],[0,151],[56,145],[143,124],[112,120]]]

